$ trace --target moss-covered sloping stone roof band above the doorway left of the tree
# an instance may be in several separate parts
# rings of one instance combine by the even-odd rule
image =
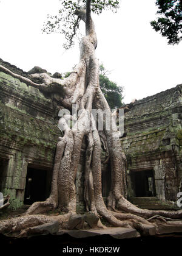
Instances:
[[[10,141],[18,141],[22,146],[35,144],[55,148],[61,132],[57,126],[51,125],[38,118],[20,113],[0,103],[0,137]]]

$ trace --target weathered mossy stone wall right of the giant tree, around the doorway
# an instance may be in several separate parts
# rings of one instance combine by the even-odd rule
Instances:
[[[127,156],[131,200],[136,196],[132,174],[152,170],[157,200],[177,201],[182,178],[181,99],[181,85],[177,85],[135,101],[124,115],[126,136],[121,144]]]

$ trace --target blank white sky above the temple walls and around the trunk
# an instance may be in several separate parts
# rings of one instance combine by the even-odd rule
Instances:
[[[50,73],[72,70],[79,46],[66,51],[60,34],[42,34],[47,14],[59,0],[0,0],[0,58],[24,71],[41,66]],[[98,35],[96,54],[109,78],[124,86],[124,102],[142,99],[181,84],[182,43],[167,44],[150,26],[155,0],[122,0],[118,13],[93,16]]]

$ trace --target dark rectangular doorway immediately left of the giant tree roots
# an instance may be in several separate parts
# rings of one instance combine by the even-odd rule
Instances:
[[[50,184],[47,185],[48,174],[47,170],[27,168],[24,204],[47,199],[50,193]]]

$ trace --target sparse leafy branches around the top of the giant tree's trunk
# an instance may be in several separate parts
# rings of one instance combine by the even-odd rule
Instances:
[[[57,15],[48,15],[47,22],[44,23],[43,32],[50,34],[52,32],[60,32],[64,34],[66,43],[63,44],[64,48],[69,49],[73,46],[73,38],[76,36],[81,38],[79,32],[80,19],[75,15],[76,9],[80,9],[81,5],[86,4],[86,0],[59,0],[61,8]],[[119,7],[120,0],[92,0],[92,12],[100,14],[103,10],[111,9],[116,11]]]

